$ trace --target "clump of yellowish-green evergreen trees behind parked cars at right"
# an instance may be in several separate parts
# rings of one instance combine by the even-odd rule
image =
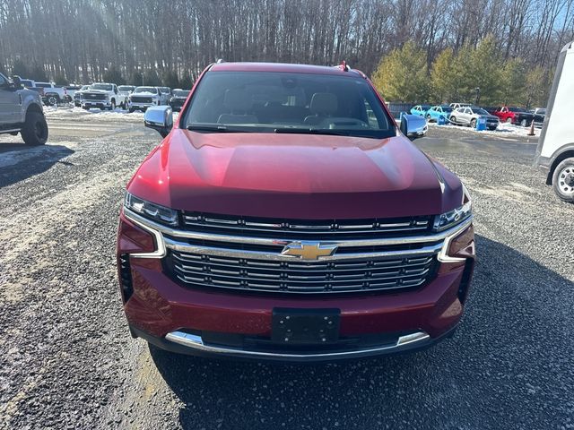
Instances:
[[[476,47],[466,44],[457,53],[445,48],[431,67],[425,52],[409,41],[383,56],[373,82],[394,101],[544,107],[552,70],[530,66],[520,57],[505,60],[495,38],[489,35]]]

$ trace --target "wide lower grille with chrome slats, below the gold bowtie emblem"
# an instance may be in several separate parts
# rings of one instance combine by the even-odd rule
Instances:
[[[286,293],[416,288],[434,275],[434,254],[336,262],[280,262],[171,251],[173,276],[190,287]]]

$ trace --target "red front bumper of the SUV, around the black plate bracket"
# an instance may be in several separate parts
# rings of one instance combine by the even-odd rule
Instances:
[[[132,332],[160,348],[192,355],[330,361],[425,348],[457,326],[474,270],[474,234],[472,224],[466,224],[457,236],[445,241],[447,249],[456,245],[460,250],[457,256],[465,258],[449,261],[444,257],[446,262],[439,263],[436,275],[421,288],[305,297],[190,288],[164,271],[161,258],[157,258],[165,253],[164,245],[158,245],[161,235],[149,237],[158,247],[155,258],[146,258],[150,254],[145,253],[137,256],[137,242],[147,240],[149,232],[124,214],[121,223],[131,229],[124,235],[120,228],[118,267]],[[272,316],[276,308],[338,309],[339,340],[304,348],[274,343]]]

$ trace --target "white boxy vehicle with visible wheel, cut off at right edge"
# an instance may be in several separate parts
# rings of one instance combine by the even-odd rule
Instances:
[[[564,202],[574,203],[574,41],[558,56],[535,165]]]

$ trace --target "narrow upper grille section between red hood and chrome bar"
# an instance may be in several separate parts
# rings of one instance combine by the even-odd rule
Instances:
[[[326,240],[333,238],[392,237],[429,231],[429,217],[401,219],[290,220],[256,219],[184,212],[187,230],[237,236]]]

